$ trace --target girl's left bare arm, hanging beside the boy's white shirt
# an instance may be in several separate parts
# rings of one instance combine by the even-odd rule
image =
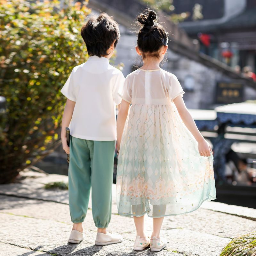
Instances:
[[[120,148],[120,142],[122,139],[122,135],[123,135],[123,131],[124,131],[124,124],[128,115],[128,111],[129,111],[129,107],[130,107],[130,103],[122,100],[121,102],[121,106],[120,109],[118,111],[118,115],[117,115],[117,150],[119,151]]]

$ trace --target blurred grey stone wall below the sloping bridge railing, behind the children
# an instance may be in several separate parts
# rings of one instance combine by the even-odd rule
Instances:
[[[121,38],[116,46],[114,64],[124,63],[122,72],[124,76],[127,76],[134,70],[134,65],[140,66],[142,62],[135,51],[137,37],[134,30],[120,26],[120,33]],[[169,44],[171,43],[169,42]],[[185,91],[183,98],[188,108],[213,109],[219,105],[254,100],[256,98],[255,90],[244,86],[243,82],[239,80],[234,80],[229,76],[223,75],[222,72],[214,68],[206,67],[202,63],[190,60],[169,49],[166,57],[167,60],[162,63],[162,68],[173,73],[179,79]],[[218,101],[218,97],[221,97],[221,94],[217,95],[217,88],[221,83],[227,85],[227,88],[224,88],[220,92],[226,92],[227,94],[223,95],[226,96],[224,101]],[[237,97],[235,97],[237,90],[232,89],[232,84],[234,83],[240,83],[240,90]]]

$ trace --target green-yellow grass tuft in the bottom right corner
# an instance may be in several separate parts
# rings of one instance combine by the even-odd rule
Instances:
[[[256,232],[232,239],[220,256],[256,256]]]

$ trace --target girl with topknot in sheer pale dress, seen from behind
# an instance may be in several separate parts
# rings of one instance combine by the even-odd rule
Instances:
[[[184,104],[176,76],[159,67],[168,39],[156,12],[148,10],[137,20],[136,52],[143,66],[126,77],[120,93],[117,207],[120,215],[133,216],[134,250],[150,244],[151,251],[160,251],[166,246],[160,238],[164,216],[192,212],[216,198],[213,152]],[[150,240],[145,213],[153,218]]]

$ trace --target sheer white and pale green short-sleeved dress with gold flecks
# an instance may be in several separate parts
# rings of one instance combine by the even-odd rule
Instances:
[[[126,77],[119,95],[132,105],[118,156],[120,215],[170,216],[216,199],[213,156],[200,156],[173,103],[183,94],[176,76],[163,69]]]

